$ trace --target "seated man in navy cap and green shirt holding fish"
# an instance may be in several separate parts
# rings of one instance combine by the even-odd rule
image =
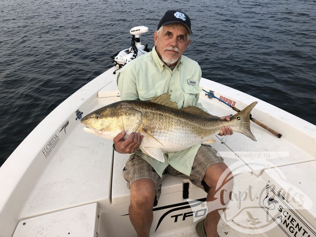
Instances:
[[[167,11],[155,31],[155,47],[152,52],[126,64],[118,75],[121,100],[150,100],[163,93],[171,94],[171,101],[178,108],[197,106],[201,69],[197,62],[183,56],[191,40],[190,18],[179,10]],[[218,117],[216,117],[218,118]],[[230,117],[222,117],[229,120]],[[219,135],[233,134],[231,128],[223,127]],[[164,154],[165,162],[157,161],[140,150],[140,133],[132,133],[125,141],[125,132],[114,139],[115,150],[119,153],[132,153],[126,162],[123,176],[131,189],[129,216],[138,236],[149,236],[153,220],[152,207],[157,205],[164,173],[187,177],[194,185],[203,188],[207,201],[214,197],[215,187],[222,173],[228,169],[216,150],[201,144],[179,152]],[[232,188],[232,182],[230,184]],[[231,190],[227,190],[229,193]],[[221,209],[225,209],[223,206]],[[218,211],[211,211],[197,224],[199,236],[218,236]]]

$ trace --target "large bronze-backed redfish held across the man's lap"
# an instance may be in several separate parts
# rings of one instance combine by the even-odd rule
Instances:
[[[86,132],[113,139],[125,131],[124,139],[140,132],[143,153],[164,162],[164,151],[181,151],[198,143],[213,143],[212,138],[225,125],[257,141],[250,131],[249,115],[258,102],[253,102],[235,114],[230,121],[220,119],[190,106],[177,108],[170,95],[162,94],[150,101],[123,100],[104,106],[87,116],[81,123]]]

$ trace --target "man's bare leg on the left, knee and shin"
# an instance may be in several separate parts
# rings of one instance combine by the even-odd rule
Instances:
[[[155,196],[155,183],[151,179],[139,179],[131,184],[129,216],[138,237],[149,237]]]

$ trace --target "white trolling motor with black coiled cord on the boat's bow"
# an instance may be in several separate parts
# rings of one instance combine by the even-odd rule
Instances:
[[[121,67],[123,67],[125,64],[127,64],[131,60],[135,59],[137,56],[143,55],[149,52],[149,49],[147,48],[148,45],[146,44],[146,46],[143,46],[142,43],[140,42],[140,35],[142,33],[146,33],[147,31],[148,31],[148,27],[145,27],[145,26],[137,26],[137,27],[131,28],[130,30],[130,33],[132,34],[131,47],[128,49],[122,50],[121,52],[118,52],[111,57],[114,59],[114,61],[112,61],[112,63],[114,63],[114,66],[119,67],[117,70],[119,70]],[[115,71],[113,72],[113,74],[115,74]]]

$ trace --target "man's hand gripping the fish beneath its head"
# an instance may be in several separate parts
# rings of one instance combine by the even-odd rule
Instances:
[[[115,145],[115,150],[119,153],[133,153],[137,151],[137,148],[142,143],[143,137],[140,136],[140,133],[133,132],[131,135],[124,141],[123,137],[125,136],[125,131],[119,133],[116,137],[113,138]]]

